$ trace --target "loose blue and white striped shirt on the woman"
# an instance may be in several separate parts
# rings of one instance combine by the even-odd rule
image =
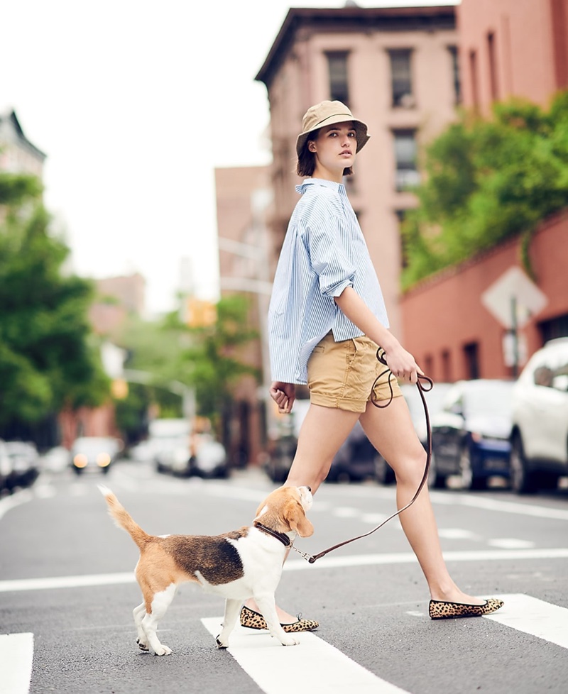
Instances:
[[[268,309],[272,378],[307,382],[307,360],[332,330],[336,342],[360,337],[334,302],[353,287],[388,328],[385,302],[363,232],[342,183],[305,180],[288,224]]]

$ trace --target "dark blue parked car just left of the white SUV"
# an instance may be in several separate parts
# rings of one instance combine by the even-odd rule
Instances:
[[[458,381],[432,415],[430,480],[444,487],[459,475],[461,487],[484,489],[489,477],[509,476],[512,381]]]

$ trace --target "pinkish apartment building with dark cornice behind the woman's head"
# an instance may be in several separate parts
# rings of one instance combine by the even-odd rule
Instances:
[[[295,140],[305,111],[339,99],[371,140],[345,183],[378,272],[391,328],[404,338],[400,221],[415,205],[420,152],[461,100],[453,6],[288,11],[256,79],[271,111],[271,269],[297,202]]]

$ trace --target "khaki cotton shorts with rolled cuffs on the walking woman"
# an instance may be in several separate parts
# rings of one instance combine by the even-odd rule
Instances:
[[[366,336],[336,342],[332,333],[328,333],[315,346],[307,363],[310,402],[349,412],[365,412],[373,382],[381,373],[374,387],[376,400],[391,397],[389,375],[393,397],[403,395],[395,376],[378,361],[376,352],[376,344]]]

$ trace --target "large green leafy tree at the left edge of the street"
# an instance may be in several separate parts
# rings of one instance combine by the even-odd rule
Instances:
[[[64,275],[31,177],[0,174],[0,425],[38,422],[108,394],[87,311],[90,282]]]

